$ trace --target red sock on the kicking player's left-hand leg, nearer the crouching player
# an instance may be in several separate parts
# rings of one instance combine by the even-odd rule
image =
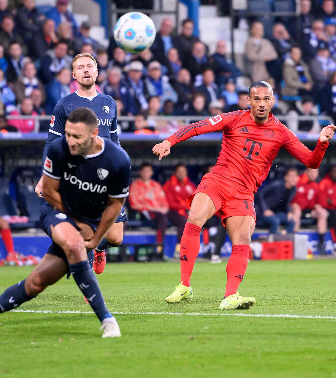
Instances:
[[[190,286],[190,277],[194,269],[195,260],[200,252],[201,228],[187,222],[181,237],[180,267],[183,285]]]

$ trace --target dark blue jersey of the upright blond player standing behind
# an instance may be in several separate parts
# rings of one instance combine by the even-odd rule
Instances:
[[[50,143],[64,134],[65,121],[68,115],[77,108],[90,108],[98,118],[99,135],[119,144],[117,134],[117,105],[111,96],[97,92],[93,99],[78,96],[76,92],[63,97],[57,102],[51,118],[48,138],[43,150],[43,161]]]

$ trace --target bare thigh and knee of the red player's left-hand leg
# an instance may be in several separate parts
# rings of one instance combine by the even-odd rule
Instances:
[[[205,193],[196,193],[190,206],[188,222],[202,227],[204,223],[215,215],[216,208],[212,198]]]

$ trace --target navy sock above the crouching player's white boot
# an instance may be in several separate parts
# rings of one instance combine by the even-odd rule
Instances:
[[[110,311],[108,311],[104,303],[98,281],[91,270],[88,260],[77,262],[76,264],[69,264],[69,268],[77,286],[90,303],[98,319],[102,321],[105,318],[112,318]]]

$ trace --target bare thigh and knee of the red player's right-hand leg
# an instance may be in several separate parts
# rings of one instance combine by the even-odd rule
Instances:
[[[255,219],[251,215],[226,218],[225,226],[232,245],[249,245],[251,243],[251,236],[255,228]]]

